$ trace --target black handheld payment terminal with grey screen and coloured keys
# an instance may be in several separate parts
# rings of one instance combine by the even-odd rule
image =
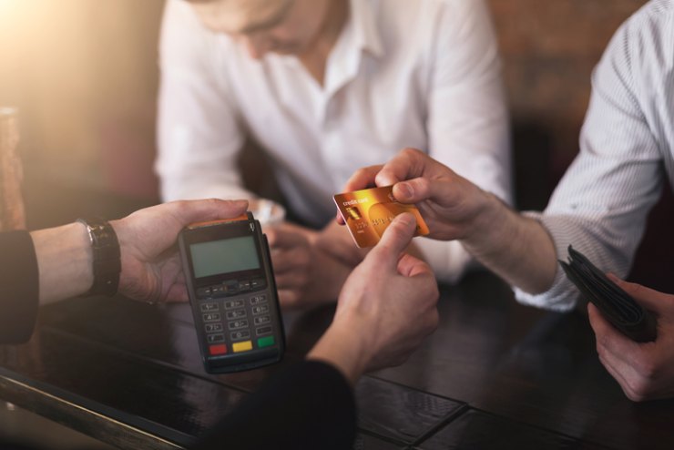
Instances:
[[[250,212],[193,223],[179,249],[208,373],[230,373],[281,361],[281,310],[267,237]]]

